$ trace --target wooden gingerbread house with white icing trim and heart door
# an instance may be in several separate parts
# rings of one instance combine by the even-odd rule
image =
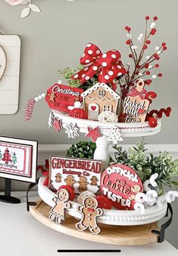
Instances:
[[[89,119],[98,120],[102,111],[111,111],[117,114],[120,95],[105,83],[98,83],[81,94],[83,106],[88,112]]]

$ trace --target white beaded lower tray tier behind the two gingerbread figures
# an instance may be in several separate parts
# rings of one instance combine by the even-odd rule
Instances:
[[[43,185],[44,180],[45,177],[39,179],[39,197],[45,204],[54,207],[55,203],[52,201],[52,198],[54,198],[56,194]],[[74,218],[80,219],[80,213],[77,211],[79,203],[70,201],[70,204],[72,207],[67,210],[67,213]],[[136,210],[104,210],[104,214],[99,216],[97,220],[98,223],[117,226],[143,225],[161,220],[166,215],[166,212],[167,203],[163,204],[161,207],[158,207],[158,205],[148,207],[145,209],[144,214]]]

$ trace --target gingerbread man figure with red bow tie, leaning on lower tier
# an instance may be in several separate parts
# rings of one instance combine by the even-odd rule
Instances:
[[[82,219],[76,224],[80,231],[89,228],[89,231],[98,234],[101,229],[97,225],[96,218],[103,214],[103,210],[98,207],[98,201],[92,196],[83,199],[83,205],[79,205],[77,210],[82,213]]]

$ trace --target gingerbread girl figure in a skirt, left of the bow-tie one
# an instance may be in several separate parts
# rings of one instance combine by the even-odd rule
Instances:
[[[70,208],[70,204],[67,203],[69,200],[69,193],[66,189],[62,188],[57,193],[57,198],[53,198],[55,206],[49,211],[49,219],[61,224],[66,217],[66,209]]]

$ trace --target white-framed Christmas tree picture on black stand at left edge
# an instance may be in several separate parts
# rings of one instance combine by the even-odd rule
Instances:
[[[37,141],[0,137],[0,177],[36,182]]]

